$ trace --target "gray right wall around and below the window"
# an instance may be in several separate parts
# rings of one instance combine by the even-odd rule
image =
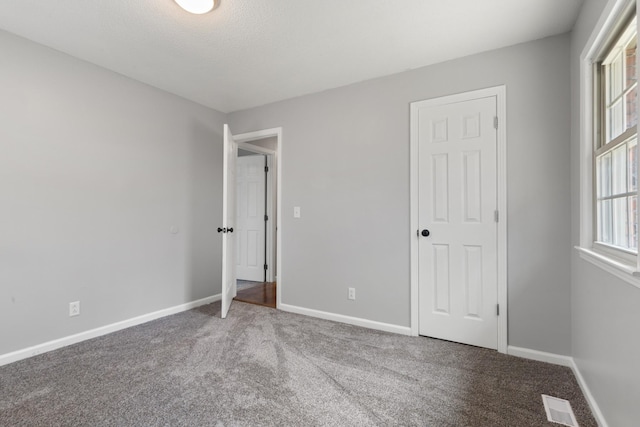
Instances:
[[[580,54],[606,0],[585,0],[571,41],[572,243],[579,243]],[[572,354],[610,426],[640,420],[640,290],[572,250]]]

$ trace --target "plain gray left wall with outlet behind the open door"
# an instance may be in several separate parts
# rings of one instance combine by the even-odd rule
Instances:
[[[218,294],[225,116],[6,32],[0,52],[0,354]]]

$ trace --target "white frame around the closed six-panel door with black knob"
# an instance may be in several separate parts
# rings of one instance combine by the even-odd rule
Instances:
[[[497,132],[497,207],[499,212],[498,221],[498,304],[500,305],[500,315],[498,316],[498,351],[507,352],[507,110],[506,110],[506,86],[496,86],[487,89],[480,89],[471,92],[459,93],[450,96],[433,98],[420,102],[420,107],[438,106],[455,102],[464,102],[472,99],[495,96],[497,101],[498,132]],[[418,108],[418,102],[411,104],[411,117]],[[411,145],[410,145],[410,211],[411,211],[411,335],[418,336],[419,325],[419,304],[418,304],[418,237],[416,231],[419,230],[418,222],[418,197],[419,197],[419,156],[418,156],[418,123],[411,121]]]

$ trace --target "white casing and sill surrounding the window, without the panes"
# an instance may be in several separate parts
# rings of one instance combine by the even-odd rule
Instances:
[[[580,56],[580,257],[625,282],[640,288],[640,251],[638,254],[608,247],[595,241],[594,213],[594,66],[603,46],[638,0],[610,0]],[[640,193],[640,191],[639,191]]]

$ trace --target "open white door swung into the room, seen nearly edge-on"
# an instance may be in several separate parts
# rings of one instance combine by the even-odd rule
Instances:
[[[236,159],[238,144],[228,125],[224,125],[224,159],[222,181],[222,312],[227,317],[231,301],[236,296]]]

